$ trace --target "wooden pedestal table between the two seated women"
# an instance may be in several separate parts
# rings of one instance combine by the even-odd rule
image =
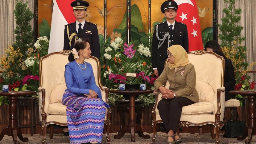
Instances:
[[[148,134],[144,135],[141,125],[135,123],[135,98],[138,97],[140,94],[150,94],[153,93],[153,90],[110,90],[110,93],[113,94],[122,94],[125,97],[130,98],[130,105],[129,105],[129,124],[124,125],[120,134],[114,135],[114,138],[122,138],[122,136],[125,134],[126,131],[130,132],[131,134],[131,142],[135,142],[134,133],[135,131],[138,133],[138,135],[142,138],[150,138]]]

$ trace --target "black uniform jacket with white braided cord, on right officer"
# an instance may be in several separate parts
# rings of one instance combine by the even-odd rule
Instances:
[[[158,30],[157,30],[158,27]],[[165,39],[165,34],[170,35],[170,44],[168,44],[168,37]],[[157,38],[159,37],[159,40]],[[163,42],[163,43],[162,43]],[[161,45],[162,44],[162,45]],[[158,46],[161,45],[159,48]],[[164,68],[164,62],[168,58],[167,48],[172,45],[181,45],[186,51],[188,51],[188,30],[184,23],[175,21],[173,32],[171,32],[167,22],[159,23],[155,25],[155,30],[152,40],[152,67],[157,68],[160,75]]]

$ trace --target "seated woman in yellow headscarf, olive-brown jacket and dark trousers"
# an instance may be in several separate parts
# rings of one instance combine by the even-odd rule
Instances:
[[[155,80],[156,93],[161,93],[163,98],[157,108],[168,131],[167,143],[178,144],[181,143],[181,138],[176,132],[182,107],[198,102],[195,89],[196,71],[188,61],[188,54],[182,46],[169,47],[167,55],[169,62],[163,73]],[[169,89],[163,87],[167,80],[170,83]]]

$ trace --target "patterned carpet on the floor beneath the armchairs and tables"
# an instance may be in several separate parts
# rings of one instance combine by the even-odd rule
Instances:
[[[144,133],[146,134],[146,133]],[[155,142],[152,142],[151,138],[153,134],[149,134],[149,139],[144,139],[138,136],[138,134],[135,134],[136,142],[130,141],[130,134],[125,134],[120,139],[114,139],[114,134],[110,134],[110,142],[107,142],[106,137],[104,136],[102,139],[102,144],[164,144],[164,142],[167,140],[167,134],[158,132],[156,135]],[[224,138],[222,136],[223,134],[220,134],[220,143],[221,144],[244,144],[245,140],[243,141],[237,141],[236,138]],[[214,144],[215,139],[211,138],[210,134],[187,134],[183,133],[180,134],[182,138],[182,144]],[[42,135],[40,134],[34,134],[31,135],[23,135],[23,137],[27,137],[29,139],[28,142],[22,142],[21,144],[38,144],[41,143]],[[13,143],[12,137],[5,135],[0,141],[0,144],[11,144]],[[54,134],[53,139],[49,138],[49,135],[46,137],[45,143],[49,144],[68,144],[69,138],[68,136],[64,136],[63,134]],[[256,136],[254,135],[252,138],[252,144],[256,144]]]

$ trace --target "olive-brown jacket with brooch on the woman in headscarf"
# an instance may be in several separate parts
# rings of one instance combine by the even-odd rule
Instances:
[[[192,64],[180,66],[175,69],[168,68],[166,64],[163,73],[155,80],[155,89],[158,90],[167,80],[170,83],[169,89],[176,94],[176,97],[186,97],[193,102],[198,102],[196,92],[196,71]]]

